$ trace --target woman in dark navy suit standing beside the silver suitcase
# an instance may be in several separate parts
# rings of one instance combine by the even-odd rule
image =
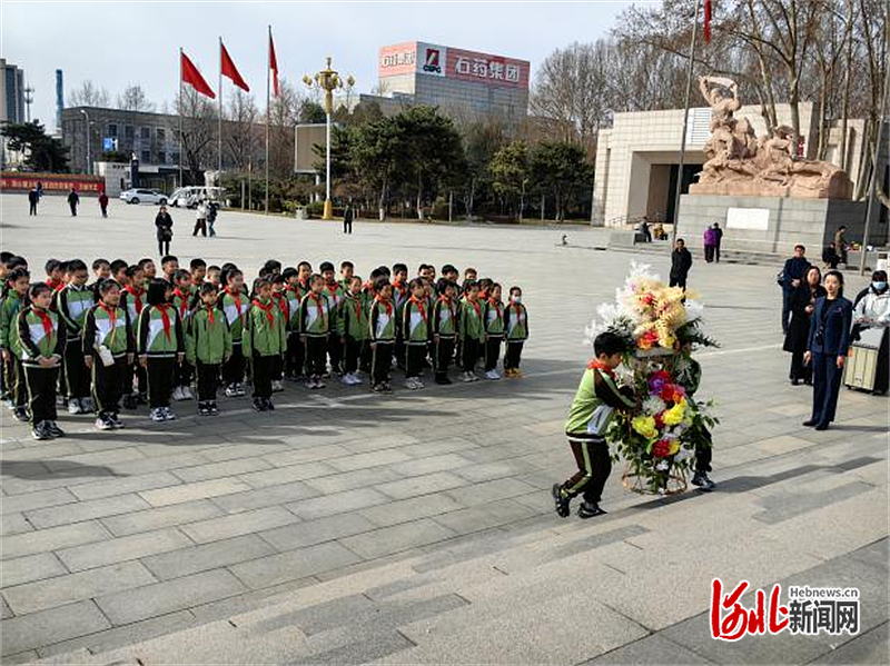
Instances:
[[[834,420],[853,318],[853,304],[843,297],[843,275],[828,271],[823,286],[827,294],[815,301],[803,356],[813,368],[813,411],[803,425],[817,430],[828,430]]]

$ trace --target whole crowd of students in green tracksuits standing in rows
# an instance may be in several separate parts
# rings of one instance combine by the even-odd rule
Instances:
[[[451,384],[454,362],[462,381],[522,376],[528,336],[522,289],[502,286],[476,270],[451,265],[436,277],[421,265],[408,278],[404,264],[380,266],[368,279],[344,261],[339,276],[323,262],[283,269],[267,261],[253,281],[234,264],[207,266],[175,256],[128,264],[92,262],[93,281],[80,259],[46,264],[33,281],[24,258],[0,252],[0,390],[18,420],[30,421],[36,439],[63,436],[57,402],[70,414],[93,414],[102,430],[121,428],[121,406],[148,404],[154,421],[176,418],[170,401],[192,399],[198,412],[219,414],[217,394],[245,395],[253,382],[257,411],[275,408],[284,380],[324,388],[339,377],[390,392],[392,369],[404,369],[405,387],[424,387],[425,368]],[[57,396],[59,399],[57,400]]]

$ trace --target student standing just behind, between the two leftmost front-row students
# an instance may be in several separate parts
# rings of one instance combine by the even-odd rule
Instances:
[[[67,285],[56,294],[56,311],[65,322],[65,378],[68,389],[68,411],[89,414],[90,375],[83,365],[83,321],[93,306],[92,291],[87,287],[87,265],[72,259],[66,267]]]

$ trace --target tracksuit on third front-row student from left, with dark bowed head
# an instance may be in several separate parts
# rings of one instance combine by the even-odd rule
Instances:
[[[146,306],[137,330],[139,356],[148,357],[148,405],[170,406],[176,381],[177,355],[186,350],[182,320],[169,304]]]

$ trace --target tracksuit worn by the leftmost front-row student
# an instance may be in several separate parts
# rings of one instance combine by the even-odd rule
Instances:
[[[59,364],[65,352],[66,326],[52,311],[40,310],[33,306],[20,310],[16,317],[21,365],[24,385],[28,388],[28,406],[31,412],[31,425],[55,421],[56,382],[59,376]],[[39,359],[52,358],[56,364],[42,367]],[[83,362],[83,359],[80,359]],[[85,368],[86,369],[86,368]]]

